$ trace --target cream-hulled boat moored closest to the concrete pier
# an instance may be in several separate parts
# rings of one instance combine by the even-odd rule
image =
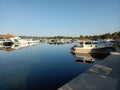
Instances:
[[[74,53],[108,53],[109,50],[104,44],[98,42],[83,42],[81,46],[72,47]]]

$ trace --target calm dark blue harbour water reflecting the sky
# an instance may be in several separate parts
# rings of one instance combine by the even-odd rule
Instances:
[[[76,63],[74,44],[0,50],[0,90],[57,90],[93,64]]]

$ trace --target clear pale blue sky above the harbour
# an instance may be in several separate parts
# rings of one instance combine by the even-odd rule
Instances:
[[[120,31],[120,0],[0,0],[0,34],[99,35]]]

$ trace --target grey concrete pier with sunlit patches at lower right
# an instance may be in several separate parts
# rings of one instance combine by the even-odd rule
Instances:
[[[58,90],[120,90],[120,49]]]

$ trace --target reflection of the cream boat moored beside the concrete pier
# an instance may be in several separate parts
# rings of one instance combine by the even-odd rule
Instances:
[[[98,53],[78,53],[78,52],[71,52],[72,55],[76,58],[76,63],[94,63],[95,61],[103,60],[106,58],[109,54],[98,54]]]

